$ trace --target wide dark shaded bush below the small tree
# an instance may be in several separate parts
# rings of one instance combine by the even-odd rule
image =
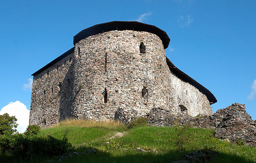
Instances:
[[[67,138],[56,139],[51,135],[27,136],[25,134],[2,135],[0,137],[0,150],[13,156],[28,158],[31,155],[58,156],[68,152],[71,144]]]

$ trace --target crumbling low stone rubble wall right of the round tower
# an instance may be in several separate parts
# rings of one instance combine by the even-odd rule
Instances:
[[[210,116],[173,115],[162,108],[154,108],[147,114],[148,124],[153,126],[172,126],[174,123],[191,124],[195,127],[215,129],[215,137],[232,142],[242,140],[247,146],[256,146],[256,120],[245,111],[242,104],[219,109]]]

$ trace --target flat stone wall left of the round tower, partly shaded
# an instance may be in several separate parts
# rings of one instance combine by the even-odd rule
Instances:
[[[29,124],[48,127],[73,116],[74,52],[33,78]]]

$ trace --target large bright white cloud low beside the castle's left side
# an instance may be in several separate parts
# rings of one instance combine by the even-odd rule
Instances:
[[[8,113],[10,116],[15,116],[17,119],[19,133],[26,131],[27,126],[29,126],[29,110],[27,107],[19,102],[10,102],[7,106],[0,110],[0,115]]]

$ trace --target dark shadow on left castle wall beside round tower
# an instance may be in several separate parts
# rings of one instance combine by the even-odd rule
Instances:
[[[59,122],[67,118],[73,117],[72,104],[74,102],[73,88],[74,88],[74,60],[72,61],[63,83],[60,86],[60,116]]]

